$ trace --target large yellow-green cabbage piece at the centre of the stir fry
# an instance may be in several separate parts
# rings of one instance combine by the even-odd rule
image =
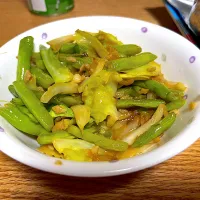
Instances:
[[[118,119],[116,100],[114,98],[117,83],[121,78],[117,72],[102,70],[91,76],[79,87],[85,105],[90,107],[91,116],[98,124],[109,117],[109,126]]]

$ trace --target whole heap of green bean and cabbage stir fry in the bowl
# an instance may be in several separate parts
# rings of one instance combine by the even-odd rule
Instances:
[[[21,39],[12,100],[0,115],[49,156],[111,161],[158,145],[185,104],[186,87],[167,81],[157,56],[114,35],[77,30],[33,52]]]

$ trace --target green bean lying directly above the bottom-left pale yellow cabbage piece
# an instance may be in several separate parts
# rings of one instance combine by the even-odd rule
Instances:
[[[73,139],[74,136],[66,131],[57,131],[51,134],[41,134],[38,136],[37,141],[40,145],[52,144],[56,139]]]

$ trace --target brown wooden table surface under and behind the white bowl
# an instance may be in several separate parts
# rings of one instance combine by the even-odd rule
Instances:
[[[57,17],[31,14],[25,0],[0,1],[0,46],[37,25],[86,15],[118,15],[178,31],[160,0],[75,0]],[[191,133],[192,134],[192,133]],[[32,169],[0,152],[0,200],[5,199],[200,199],[200,140],[174,158],[137,173],[74,178]]]

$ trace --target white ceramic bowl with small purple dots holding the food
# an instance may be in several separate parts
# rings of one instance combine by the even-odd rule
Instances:
[[[32,35],[35,48],[48,40],[74,33],[76,29],[104,30],[124,43],[135,43],[158,56],[162,71],[169,80],[186,83],[188,102],[200,94],[200,51],[182,36],[144,21],[122,17],[80,17],[61,20],[33,28],[15,37],[0,48],[0,99],[10,100],[8,85],[15,80],[18,45],[21,38]],[[143,155],[117,162],[80,163],[48,157],[35,150],[38,144],[0,118],[0,150],[31,167],[57,174],[102,177],[142,170],[161,163],[189,147],[200,136],[200,110],[187,111],[187,105],[175,125],[165,134],[161,145]]]

